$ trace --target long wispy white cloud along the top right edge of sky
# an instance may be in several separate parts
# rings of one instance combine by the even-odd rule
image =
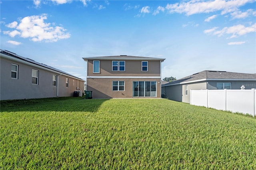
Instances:
[[[253,2],[251,0],[214,0],[214,1],[198,1],[191,0],[189,2],[181,2],[175,4],[167,4],[166,9],[170,13],[185,13],[186,15],[209,13],[221,10],[221,14],[234,12],[238,10],[238,7],[243,6],[246,3]]]

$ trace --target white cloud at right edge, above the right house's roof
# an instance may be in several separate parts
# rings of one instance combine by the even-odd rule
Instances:
[[[244,34],[248,34],[250,32],[256,32],[256,24],[245,27],[241,24],[231,27],[224,27],[222,30],[216,31],[217,27],[214,27],[210,30],[204,30],[205,34],[213,33],[213,35],[217,35],[218,37],[223,36],[225,34],[232,34],[230,38],[236,38],[238,36],[242,36]]]

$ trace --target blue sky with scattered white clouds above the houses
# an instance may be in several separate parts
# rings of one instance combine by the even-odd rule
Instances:
[[[82,57],[166,58],[162,78],[256,73],[256,1],[1,0],[0,47],[86,79]]]

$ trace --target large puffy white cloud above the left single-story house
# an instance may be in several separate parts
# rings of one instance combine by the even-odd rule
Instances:
[[[16,28],[14,31],[5,31],[4,34],[8,34],[11,37],[19,35],[22,38],[31,38],[34,42],[57,42],[60,39],[70,38],[70,34],[66,33],[63,27],[53,27],[51,23],[45,23],[47,19],[46,14],[40,16],[27,16],[20,20],[20,24],[13,24],[14,22],[7,24],[6,26],[12,26]]]

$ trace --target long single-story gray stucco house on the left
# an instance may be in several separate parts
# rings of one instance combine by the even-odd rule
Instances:
[[[67,97],[84,91],[84,80],[64,71],[6,50],[0,50],[0,59],[0,100]]]

